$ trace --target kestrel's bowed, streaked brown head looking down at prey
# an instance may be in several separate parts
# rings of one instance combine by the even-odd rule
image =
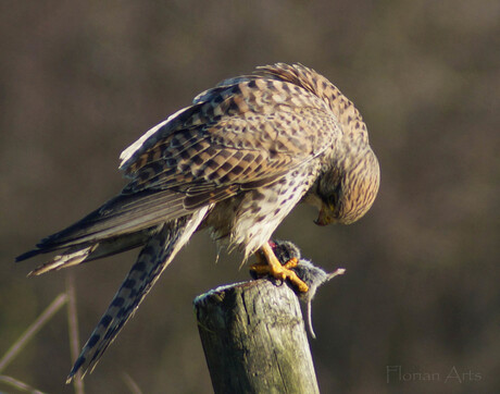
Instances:
[[[320,216],[315,223],[351,224],[361,219],[372,207],[379,182],[378,161],[370,148],[359,160],[335,163],[317,182]]]

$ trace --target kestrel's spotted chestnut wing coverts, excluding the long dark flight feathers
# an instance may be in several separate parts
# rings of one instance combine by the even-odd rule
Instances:
[[[322,155],[338,130],[327,104],[289,82],[246,76],[224,82],[122,156],[124,193],[171,189],[184,207],[260,187]]]

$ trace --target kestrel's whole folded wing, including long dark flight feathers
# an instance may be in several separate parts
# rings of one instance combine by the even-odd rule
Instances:
[[[130,182],[120,196],[17,260],[179,218],[271,184],[332,148],[337,119],[298,70],[276,65],[200,94],[122,153]]]

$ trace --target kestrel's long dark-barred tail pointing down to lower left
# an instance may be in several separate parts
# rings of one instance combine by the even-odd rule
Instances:
[[[137,262],[128,272],[108,310],[85,344],[66,383],[70,383],[79,370],[83,375],[88,370],[90,372],[93,370],[104,350],[130,319],[163,270],[189,241],[208,210],[209,207],[204,207],[193,214],[165,223],[158,234],[147,242]]]

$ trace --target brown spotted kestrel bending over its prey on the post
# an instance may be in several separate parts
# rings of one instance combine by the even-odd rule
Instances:
[[[93,369],[191,235],[208,229],[245,259],[259,250],[279,279],[308,286],[268,244],[299,202],[316,224],[349,224],[372,206],[379,168],[366,126],[328,79],[277,63],[221,82],[151,128],[121,155],[128,184],[24,260],[59,250],[30,275],[141,247],[136,263],[68,375]]]

